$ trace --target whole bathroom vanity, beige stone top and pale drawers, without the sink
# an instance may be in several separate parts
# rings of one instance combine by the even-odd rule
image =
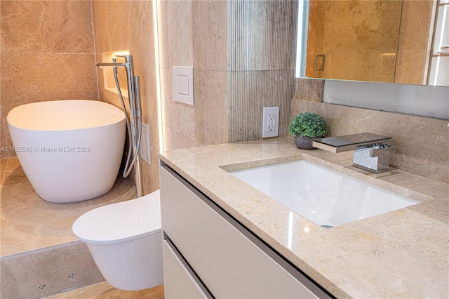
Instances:
[[[352,166],[351,152],[299,150],[292,138],[172,150],[160,159],[167,298],[449,296],[444,182],[394,168],[369,173]],[[297,160],[418,204],[324,228],[229,173]]]

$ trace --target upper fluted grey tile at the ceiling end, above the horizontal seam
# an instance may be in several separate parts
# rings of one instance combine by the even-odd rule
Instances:
[[[231,71],[294,69],[297,1],[229,1]]]

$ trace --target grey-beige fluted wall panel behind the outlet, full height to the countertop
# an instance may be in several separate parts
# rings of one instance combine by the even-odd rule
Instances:
[[[297,1],[228,2],[229,142],[262,139],[263,107],[287,135],[295,90]]]

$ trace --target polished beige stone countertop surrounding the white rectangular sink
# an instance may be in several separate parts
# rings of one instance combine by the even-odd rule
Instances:
[[[395,168],[369,173],[352,166],[352,152],[299,150],[293,138],[170,150],[160,158],[337,298],[449,298],[449,184]],[[326,229],[297,213],[292,222],[291,210],[227,173],[300,159],[420,204]]]

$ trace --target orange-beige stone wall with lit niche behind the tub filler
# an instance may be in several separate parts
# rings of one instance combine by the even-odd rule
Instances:
[[[110,54],[116,51],[129,51],[133,55],[134,72],[140,78],[142,121],[149,125],[151,165],[141,162],[144,193],[148,194],[159,189],[159,128],[152,1],[93,0],[92,12],[97,61],[112,62]],[[123,69],[120,71],[123,74]],[[121,107],[114,84],[110,86],[110,90],[105,88],[105,72],[111,75],[112,69],[98,69],[100,100]],[[121,86],[126,88],[126,79],[121,80]],[[126,102],[127,98],[124,100]],[[133,180],[133,172],[128,178]]]

